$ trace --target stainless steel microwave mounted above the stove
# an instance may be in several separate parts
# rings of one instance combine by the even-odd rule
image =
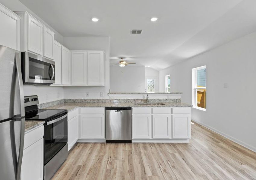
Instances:
[[[21,52],[23,84],[55,83],[55,62],[30,52]]]

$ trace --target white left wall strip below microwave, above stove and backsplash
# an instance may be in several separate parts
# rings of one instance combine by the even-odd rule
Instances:
[[[24,85],[24,96],[38,95],[39,103],[56,101],[64,98],[63,88],[61,86],[49,85]],[[48,94],[48,99],[46,99]]]

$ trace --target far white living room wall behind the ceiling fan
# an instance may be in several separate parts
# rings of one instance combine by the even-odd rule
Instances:
[[[111,92],[145,92],[145,66],[110,66]]]

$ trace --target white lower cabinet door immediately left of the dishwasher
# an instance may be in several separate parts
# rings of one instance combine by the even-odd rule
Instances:
[[[81,115],[81,138],[103,139],[105,138],[104,115]]]

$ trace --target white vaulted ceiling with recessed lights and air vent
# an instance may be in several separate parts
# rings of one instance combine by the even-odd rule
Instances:
[[[256,31],[255,0],[20,1],[63,36],[109,36],[112,62],[157,70]]]

